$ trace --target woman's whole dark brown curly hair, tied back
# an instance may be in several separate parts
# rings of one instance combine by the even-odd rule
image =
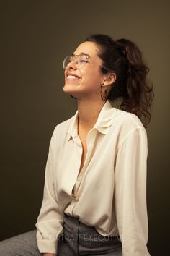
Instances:
[[[85,41],[97,43],[104,67],[114,71],[117,76],[107,99],[115,101],[121,97],[120,109],[138,116],[146,128],[151,121],[154,93],[153,85],[147,79],[149,69],[143,62],[138,46],[130,40],[112,40],[102,34],[91,35]],[[104,74],[109,72],[103,67],[101,69]]]

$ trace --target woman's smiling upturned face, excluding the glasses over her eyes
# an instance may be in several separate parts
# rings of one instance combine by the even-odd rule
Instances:
[[[75,55],[86,54],[91,59],[82,69],[78,69],[76,61],[71,61],[65,70],[65,85],[63,91],[73,95],[75,98],[99,98],[100,86],[104,81],[104,74],[101,72],[102,59],[99,58],[99,46],[93,42],[81,43]]]

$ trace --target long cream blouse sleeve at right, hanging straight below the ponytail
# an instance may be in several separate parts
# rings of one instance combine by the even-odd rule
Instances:
[[[148,145],[144,128],[122,142],[115,163],[115,213],[123,256],[148,256],[146,170]]]

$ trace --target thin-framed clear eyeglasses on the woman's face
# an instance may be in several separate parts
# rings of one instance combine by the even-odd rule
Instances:
[[[72,61],[76,62],[77,69],[82,69],[86,65],[86,63],[89,62],[89,60],[99,64],[97,61],[95,61],[94,59],[91,59],[89,56],[85,54],[66,56],[66,58],[63,60],[63,69],[66,69],[68,67],[68,64],[71,63]],[[107,71],[110,71],[107,67],[104,67],[102,64],[99,64],[99,65],[104,69],[106,69]]]

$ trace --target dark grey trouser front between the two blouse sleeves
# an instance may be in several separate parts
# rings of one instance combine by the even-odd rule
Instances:
[[[88,226],[79,221],[79,217],[64,213],[58,255],[122,255],[122,243],[119,236],[102,236],[94,226]]]

